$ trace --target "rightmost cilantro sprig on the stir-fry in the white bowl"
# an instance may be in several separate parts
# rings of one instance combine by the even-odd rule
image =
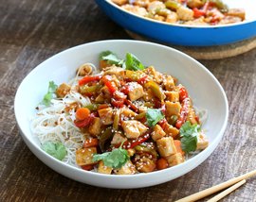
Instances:
[[[181,137],[180,141],[183,151],[190,153],[196,150],[197,136],[200,129],[199,125],[192,125],[189,121],[180,127],[179,134]]]

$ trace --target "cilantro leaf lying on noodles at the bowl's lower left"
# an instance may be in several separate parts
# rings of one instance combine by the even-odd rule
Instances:
[[[42,149],[57,160],[63,160],[67,153],[63,143],[47,142],[42,145]]]

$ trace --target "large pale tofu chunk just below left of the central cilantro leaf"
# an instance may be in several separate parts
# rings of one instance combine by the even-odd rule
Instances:
[[[144,126],[136,120],[123,121],[121,126],[124,130],[124,135],[128,139],[137,139],[138,136],[147,131],[148,127]]]

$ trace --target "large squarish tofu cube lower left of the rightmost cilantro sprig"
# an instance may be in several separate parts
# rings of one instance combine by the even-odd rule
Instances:
[[[176,153],[176,147],[172,137],[163,137],[156,141],[156,145],[161,157],[168,157]]]

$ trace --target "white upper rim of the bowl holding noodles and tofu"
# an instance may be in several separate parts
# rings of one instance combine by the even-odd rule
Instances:
[[[30,141],[30,138],[29,138],[29,135],[27,135],[27,133],[24,131],[24,126],[21,126],[20,125],[20,122],[19,120],[22,119],[22,117],[18,116],[19,115],[19,112],[17,111],[17,107],[18,107],[18,103],[19,103],[19,100],[18,100],[18,97],[20,96],[20,92],[22,91],[22,88],[23,88],[23,85],[24,83],[26,82],[26,78],[27,76],[31,76],[33,74],[36,73],[37,69],[40,69],[40,68],[43,68],[45,63],[48,61],[48,60],[52,60],[52,59],[55,59],[55,58],[58,58],[58,57],[61,57],[64,53],[66,52],[72,52],[74,51],[75,49],[80,49],[82,48],[82,46],[86,46],[86,45],[94,45],[94,44],[98,44],[98,43],[104,43],[104,42],[117,42],[117,43],[120,43],[122,45],[125,45],[125,43],[137,43],[137,44],[141,44],[141,43],[144,43],[146,45],[153,45],[153,46],[158,46],[158,48],[164,48],[164,49],[167,49],[168,51],[173,51],[175,52],[176,54],[180,54],[182,55],[182,57],[185,57],[185,58],[188,58],[188,59],[191,59],[192,62],[195,62],[196,65],[203,69],[213,80],[214,80],[214,83],[217,85],[218,89],[220,90],[220,93],[222,95],[222,97],[224,98],[224,106],[225,106],[225,116],[224,116],[224,123],[222,124],[220,130],[219,130],[219,133],[217,135],[217,137],[210,143],[210,145],[203,151],[201,151],[199,154],[195,155],[194,157],[192,157],[191,159],[189,160],[186,160],[184,161],[183,163],[181,164],[178,164],[178,165],[175,165],[174,167],[170,167],[170,168],[167,168],[167,169],[163,169],[163,170],[159,170],[159,171],[154,171],[154,172],[151,172],[151,173],[147,173],[147,174],[137,174],[137,175],[105,175],[105,174],[100,174],[100,173],[96,173],[96,172],[91,172],[91,171],[85,171],[85,170],[82,170],[81,168],[79,167],[75,167],[73,165],[69,165],[67,163],[64,163],[63,161],[61,160],[57,160],[55,159],[54,157],[50,156],[49,154],[47,154],[45,151],[43,151],[41,148],[40,148],[40,145],[38,145],[38,143],[34,143],[33,141]],[[42,67],[43,66],[43,67]],[[221,84],[219,83],[219,81],[217,80],[217,78],[215,76],[213,76],[211,73],[210,73],[210,70],[208,70],[203,64],[201,64],[200,62],[198,62],[197,60],[195,59],[192,59],[192,57],[190,57],[189,55],[181,52],[181,51],[178,51],[172,47],[168,47],[166,45],[162,45],[162,44],[158,44],[158,43],[155,43],[155,42],[143,42],[143,41],[134,41],[134,40],[103,40],[103,41],[98,41],[98,42],[86,42],[86,43],[83,43],[83,44],[80,44],[80,45],[77,45],[77,46],[73,46],[73,47],[70,47],[70,48],[67,48],[57,54],[54,54],[53,56],[51,56],[50,58],[48,59],[45,59],[43,62],[41,62],[40,64],[38,64],[32,71],[30,71],[27,76],[25,76],[25,78],[22,80],[21,84],[19,85],[18,89],[17,89],[17,92],[15,94],[15,97],[14,97],[14,114],[15,114],[15,119],[16,119],[16,122],[18,124],[18,127],[20,129],[20,133],[22,135],[22,138],[25,139],[25,143],[30,143],[29,145],[27,144],[27,146],[30,148],[30,146],[32,147],[32,149],[30,148],[30,150],[33,150],[33,149],[36,149],[41,155],[44,156],[44,158],[46,160],[53,160],[55,163],[59,164],[60,166],[63,165],[64,167],[66,167],[68,170],[70,171],[74,171],[74,172],[79,172],[81,173],[82,175],[92,175],[92,177],[104,177],[104,178],[143,178],[143,177],[154,177],[154,176],[157,176],[157,175],[160,175],[160,174],[166,174],[166,173],[169,173],[169,172],[172,172],[172,170],[177,170],[183,166],[186,166],[186,164],[190,163],[192,160],[195,160],[195,159],[202,159],[204,157],[204,154],[208,151],[208,150],[214,150],[216,148],[217,145],[215,145],[216,143],[218,144],[218,141],[221,140],[221,138],[223,137],[223,134],[224,134],[224,131],[228,125],[228,118],[229,118],[229,103],[228,103],[228,98],[227,98],[227,95],[223,89],[223,87],[221,86]],[[29,126],[30,127],[30,126]],[[30,134],[32,134],[32,131],[30,130],[29,131]],[[215,146],[215,148],[214,148]],[[35,152],[32,152],[37,158],[39,158],[41,160],[41,158],[39,157],[38,154],[36,154]],[[209,157],[210,155],[207,156],[207,158]],[[206,158],[206,159],[207,159]],[[45,164],[46,162],[44,160],[42,160]],[[201,164],[201,163],[199,163]],[[196,164],[195,167],[197,167],[199,164]],[[47,165],[47,164],[46,164]],[[49,166],[49,165],[47,165]],[[193,167],[192,169],[194,169],[195,167]],[[55,170],[55,169],[53,169]],[[58,173],[61,173],[60,171],[57,171],[55,170],[56,172]],[[186,172],[188,173],[188,172]],[[61,173],[62,174],[62,173]],[[64,174],[62,174],[64,175]],[[184,175],[184,174],[183,174]],[[181,176],[183,176],[181,175]],[[74,178],[73,178],[74,179]]]

